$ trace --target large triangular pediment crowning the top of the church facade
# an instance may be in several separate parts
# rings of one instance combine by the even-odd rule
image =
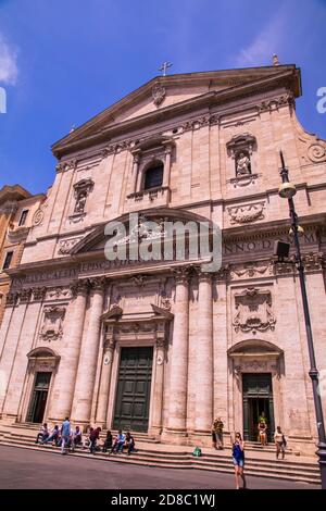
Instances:
[[[54,144],[52,149],[54,154],[60,154],[61,150],[68,145],[76,145],[85,139],[96,141],[101,135],[109,133],[111,127],[205,98],[208,95],[216,95],[226,89],[256,84],[287,72],[296,74],[296,71],[294,65],[277,65],[158,76],[73,130]],[[299,88],[298,86],[297,96]]]

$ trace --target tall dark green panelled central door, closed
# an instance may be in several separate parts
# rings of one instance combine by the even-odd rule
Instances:
[[[122,348],[113,427],[147,432],[153,348]]]

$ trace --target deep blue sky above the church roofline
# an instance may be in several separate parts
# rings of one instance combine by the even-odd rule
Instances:
[[[50,146],[154,77],[269,65],[302,70],[299,120],[326,138],[326,0],[0,0],[0,187],[51,185]]]

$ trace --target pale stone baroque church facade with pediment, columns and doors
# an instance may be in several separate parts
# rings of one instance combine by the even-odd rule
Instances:
[[[161,76],[52,147],[53,186],[9,270],[2,423],[68,415],[210,445],[213,417],[255,440],[264,412],[269,436],[280,425],[290,447],[314,452],[298,274],[273,258],[275,240],[291,241],[281,149],[325,373],[326,142],[300,125],[300,96],[294,65]],[[184,260],[108,259],[108,224],[125,228],[129,253],[135,237],[153,241],[148,222],[166,221],[218,226],[218,267],[187,249]]]

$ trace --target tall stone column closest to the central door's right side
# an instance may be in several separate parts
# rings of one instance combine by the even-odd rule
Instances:
[[[189,284],[188,275],[176,276],[173,348],[171,359],[168,434],[185,435],[188,383]]]

